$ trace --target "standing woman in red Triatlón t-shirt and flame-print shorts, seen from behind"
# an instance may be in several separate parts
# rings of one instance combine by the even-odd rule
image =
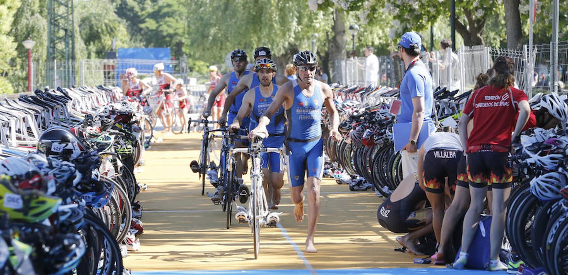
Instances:
[[[511,192],[513,180],[508,152],[511,138],[519,136],[527,123],[531,107],[527,95],[513,88],[515,64],[506,56],[495,59],[495,75],[485,86],[471,96],[463,109],[458,127],[463,151],[467,155],[467,179],[470,185],[471,202],[463,220],[462,251],[453,266],[464,268],[467,251],[477,230],[479,215],[487,194],[487,185],[492,186],[493,201],[491,222],[491,261],[487,270],[506,269],[500,264],[499,251],[505,226],[505,201]],[[519,112],[519,117],[515,117]],[[468,136],[467,122],[473,121],[473,130]],[[514,129],[514,132],[513,132]],[[513,132],[511,136],[511,132]]]

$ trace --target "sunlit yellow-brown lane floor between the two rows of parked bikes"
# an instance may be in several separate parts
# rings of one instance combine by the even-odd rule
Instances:
[[[303,253],[307,218],[297,223],[285,183],[280,210],[281,228],[261,229],[260,259],[254,260],[248,225],[225,229],[220,206],[201,196],[201,180],[189,169],[197,159],[201,136],[164,137],[147,151],[139,181],[148,191],[139,194],[144,208],[141,249],[129,252],[124,265],[135,271],[242,269],[361,269],[423,268],[410,253],[394,252],[396,234],[377,222],[383,201],[374,192],[350,192],[346,185],[326,179],[315,254]],[[247,176],[244,177],[245,181]],[[212,192],[211,185],[206,191]],[[310,207],[309,205],[307,206]]]

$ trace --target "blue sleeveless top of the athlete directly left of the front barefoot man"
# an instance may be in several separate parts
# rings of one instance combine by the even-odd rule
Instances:
[[[266,109],[270,106],[272,101],[274,100],[274,96],[276,95],[276,91],[278,91],[278,86],[274,85],[272,90],[272,95],[268,98],[262,96],[260,92],[260,87],[256,86],[254,88],[254,105],[252,107],[252,112],[250,112],[250,128],[254,129],[258,125],[258,120]],[[284,108],[280,107],[276,113],[270,118],[270,123],[266,125],[266,130],[270,136],[274,136],[276,134],[283,134],[284,133]]]

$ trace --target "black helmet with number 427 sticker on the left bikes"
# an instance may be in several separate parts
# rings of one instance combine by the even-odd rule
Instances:
[[[37,141],[37,151],[45,156],[61,156],[63,160],[73,160],[88,153],[81,140],[62,127],[45,130]]]

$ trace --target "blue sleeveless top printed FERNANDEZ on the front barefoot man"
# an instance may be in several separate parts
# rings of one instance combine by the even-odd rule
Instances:
[[[323,94],[319,85],[314,86],[314,95],[302,94],[302,88],[295,80],[294,103],[286,110],[288,120],[287,137],[294,141],[307,141],[321,136],[321,109]]]

